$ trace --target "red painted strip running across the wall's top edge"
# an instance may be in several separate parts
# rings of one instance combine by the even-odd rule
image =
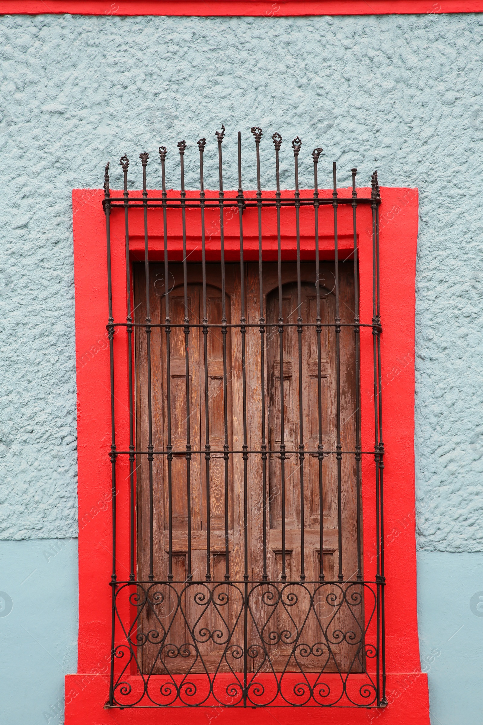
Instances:
[[[483,12],[483,0],[1,0],[0,14],[264,16]]]

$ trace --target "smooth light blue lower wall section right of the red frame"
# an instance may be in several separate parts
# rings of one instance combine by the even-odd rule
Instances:
[[[417,563],[431,725],[483,725],[483,553],[419,551]]]

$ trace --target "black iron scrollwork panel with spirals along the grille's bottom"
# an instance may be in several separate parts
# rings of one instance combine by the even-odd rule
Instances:
[[[118,584],[124,639],[115,649],[114,706],[147,699],[154,707],[369,707],[377,697],[367,668],[376,656],[368,639],[376,605],[374,585],[365,582]],[[344,649],[351,653],[345,671]],[[141,666],[147,660],[149,669]]]

